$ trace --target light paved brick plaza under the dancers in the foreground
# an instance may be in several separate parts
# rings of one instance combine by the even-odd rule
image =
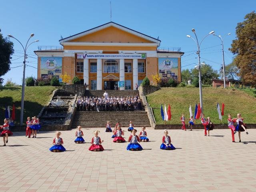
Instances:
[[[66,152],[53,153],[55,132],[26,138],[14,132],[7,146],[0,141],[0,192],[255,192],[256,129],[232,143],[231,131],[170,130],[176,150],[160,150],[163,130],[147,128],[144,150],[127,151],[100,133],[105,151],[88,150],[96,129],[83,129],[85,144],[75,144],[75,131],[62,131]],[[125,129],[127,130],[127,129]],[[140,130],[140,129],[138,129]],[[125,132],[128,140],[129,132]]]

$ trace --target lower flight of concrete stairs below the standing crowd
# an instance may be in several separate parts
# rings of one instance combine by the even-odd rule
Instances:
[[[119,121],[122,127],[128,128],[130,121],[135,127],[141,128],[142,126],[150,127],[148,114],[146,111],[131,111],[131,112],[92,112],[82,111],[76,112],[76,116],[72,122],[72,128],[78,125],[82,128],[102,128],[105,127],[107,121],[110,121],[112,127]]]

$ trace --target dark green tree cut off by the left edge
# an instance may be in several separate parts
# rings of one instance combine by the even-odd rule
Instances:
[[[1,29],[0,29],[1,32]],[[0,84],[3,83],[3,76],[10,70],[11,55],[14,53],[13,43],[0,33]]]

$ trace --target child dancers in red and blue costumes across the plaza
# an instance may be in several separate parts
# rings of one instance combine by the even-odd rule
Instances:
[[[182,114],[180,121],[182,122],[182,130],[186,131],[186,121],[185,121],[185,117],[184,114]],[[231,134],[232,134],[232,142],[235,142],[234,139],[234,134],[236,134],[236,132],[238,132],[238,136],[239,136],[239,142],[241,142],[241,132],[246,132],[246,134],[249,134],[248,131],[246,130],[246,124],[244,124],[244,118],[242,118],[242,115],[239,113],[237,114],[236,118],[232,118],[231,114],[228,114],[228,128],[230,128],[231,130]],[[210,130],[214,129],[214,124],[211,122],[210,117],[205,118],[204,114],[202,114],[202,118],[201,118],[201,123],[204,126],[204,136],[210,136]],[[236,126],[234,126],[234,123],[236,123]],[[32,138],[36,138],[36,134],[37,131],[40,130],[41,126],[40,126],[40,121],[39,119],[34,116],[32,117],[32,119],[30,119],[30,117],[27,118],[27,128],[26,128],[26,137],[28,136],[28,138],[31,137],[32,134]],[[190,127],[190,131],[192,131],[192,127],[195,125],[195,119],[193,118],[193,116],[191,116],[189,118],[188,121],[188,127]],[[120,122],[118,122],[115,126],[114,129],[112,130],[112,126],[110,124],[109,121],[107,121],[106,123],[106,132],[112,132],[113,135],[111,136],[111,138],[113,138],[113,142],[116,143],[120,143],[120,142],[126,142],[126,140],[123,138],[124,136],[124,130],[122,130],[122,125],[120,124]],[[147,132],[146,127],[143,126],[139,136],[136,135],[137,130],[134,128],[134,124],[132,123],[132,121],[130,121],[128,127],[128,132],[130,132],[130,136],[128,138],[128,142],[130,142],[130,144],[128,144],[127,146],[127,150],[132,150],[132,151],[138,151],[138,150],[142,150],[142,146],[140,146],[140,142],[148,142],[149,139],[147,137]],[[8,143],[8,137],[12,136],[12,132],[10,131],[10,120],[8,118],[4,119],[4,124],[1,126],[0,125],[0,129],[3,129],[3,131],[1,132],[0,136],[3,137],[3,141],[4,141],[4,146],[6,146],[6,143]],[[77,131],[75,133],[76,139],[74,140],[75,143],[77,144],[81,144],[84,143],[85,140],[83,138],[84,133],[81,130],[81,126],[77,127]],[[207,134],[208,132],[208,134]],[[103,140],[100,139],[100,137],[98,136],[98,134],[100,133],[99,130],[96,130],[93,132],[94,137],[91,140],[91,146],[89,148],[89,150],[91,151],[103,151],[104,148],[101,145]],[[62,138],[60,138],[61,132],[56,132],[56,138],[54,138],[52,144],[54,144],[51,148],[50,151],[52,152],[61,152],[61,151],[65,151],[66,149],[62,146],[63,144],[63,140]],[[162,144],[160,146],[160,149],[162,150],[174,150],[175,147],[171,144],[171,138],[170,136],[168,136],[168,130],[164,130],[164,136],[162,137]]]

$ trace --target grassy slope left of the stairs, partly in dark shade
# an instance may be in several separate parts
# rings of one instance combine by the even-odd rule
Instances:
[[[26,122],[28,116],[38,115],[42,107],[49,102],[53,90],[57,88],[53,86],[25,87],[23,122]],[[0,124],[3,124],[5,118],[5,106],[9,105],[12,108],[13,103],[16,115],[15,124],[20,123],[21,90],[21,86],[0,88]]]

